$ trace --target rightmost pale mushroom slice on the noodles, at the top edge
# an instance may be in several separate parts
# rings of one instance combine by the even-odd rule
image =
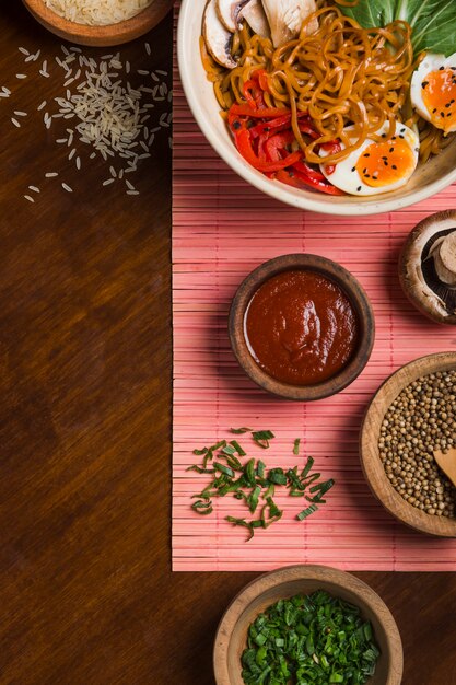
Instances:
[[[262,0],[262,5],[276,47],[299,36],[304,20],[317,9],[315,0]],[[318,21],[312,20],[307,34],[315,33],[317,28]]]

